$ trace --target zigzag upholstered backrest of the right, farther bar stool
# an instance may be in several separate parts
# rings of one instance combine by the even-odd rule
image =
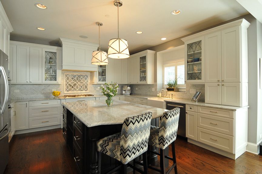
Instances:
[[[160,118],[160,127],[158,135],[159,148],[165,149],[176,140],[180,109],[174,108],[165,111]]]

